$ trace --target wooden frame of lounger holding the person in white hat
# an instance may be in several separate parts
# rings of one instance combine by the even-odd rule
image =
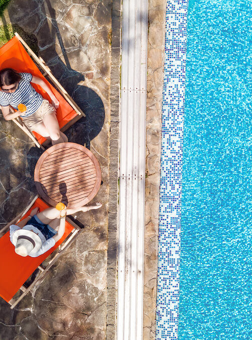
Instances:
[[[29,204],[29,206],[21,213],[19,214],[14,220],[12,220],[10,223],[8,223],[3,229],[0,231],[0,237],[3,236],[3,234],[8,230],[8,228],[15,223],[18,223],[22,217],[28,212],[28,210],[33,206],[34,202],[39,196],[37,195]],[[42,199],[42,198],[41,198]],[[46,203],[47,204],[47,203]],[[26,294],[42,279],[45,277],[46,272],[49,270],[49,268],[55,263],[55,261],[59,258],[62,253],[71,245],[71,243],[75,240],[77,237],[79,231],[81,230],[80,227],[75,224],[72,220],[70,220],[68,217],[66,217],[66,220],[74,227],[71,234],[64,240],[63,244],[60,244],[55,250],[57,250],[57,253],[50,259],[48,264],[45,268],[43,268],[42,263],[36,268],[39,269],[39,275],[36,277],[36,279],[31,283],[29,287],[25,287],[24,285],[20,287],[19,291],[21,290],[23,293],[18,299],[14,299],[14,297],[8,302],[11,305],[11,309],[13,309],[25,296]],[[34,271],[36,270],[34,269]],[[28,279],[28,278],[27,278]],[[19,292],[18,291],[18,292]],[[17,293],[18,293],[17,292]],[[16,293],[16,294],[17,294]],[[16,295],[15,294],[15,295]]]

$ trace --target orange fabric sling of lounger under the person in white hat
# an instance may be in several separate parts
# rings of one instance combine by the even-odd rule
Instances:
[[[29,216],[31,210],[36,207],[43,211],[49,206],[41,198],[37,198],[32,208],[23,218]],[[17,255],[14,245],[10,241],[9,231],[0,238],[0,296],[9,302],[38,265],[69,236],[73,229],[74,227],[66,221],[65,234],[62,238],[54,247],[38,257],[22,257]]]

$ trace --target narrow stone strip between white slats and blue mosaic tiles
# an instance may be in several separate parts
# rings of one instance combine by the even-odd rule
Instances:
[[[145,257],[143,338],[155,339],[161,111],[166,0],[149,0],[146,109]]]

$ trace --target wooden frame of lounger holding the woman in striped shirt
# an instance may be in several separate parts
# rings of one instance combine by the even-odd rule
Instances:
[[[75,118],[73,118],[71,121],[69,121],[65,126],[63,126],[60,129],[62,132],[66,131],[71,125],[73,125],[80,118],[86,117],[85,113],[80,109],[80,107],[76,104],[76,102],[73,100],[73,98],[67,93],[67,91],[64,89],[64,87],[62,87],[62,85],[52,75],[51,70],[46,65],[45,61],[41,57],[38,57],[31,50],[31,48],[27,45],[27,43],[20,37],[20,35],[17,32],[15,32],[15,35],[18,38],[18,40],[21,42],[21,44],[24,46],[24,48],[26,49],[26,51],[30,55],[30,57],[33,59],[33,61],[35,63],[37,63],[41,67],[41,69],[44,71],[44,73],[42,74],[43,77],[47,76],[50,79],[50,81],[55,86],[55,88],[58,90],[58,92],[67,100],[67,102],[73,107],[73,109],[78,114]],[[12,120],[14,121],[15,124],[17,124],[31,138],[31,140],[35,143],[35,145],[38,148],[41,148],[42,150],[44,150],[44,147],[37,141],[33,132],[25,125],[25,123],[22,121],[22,119],[20,117],[14,118]],[[43,144],[46,145],[46,142],[44,142]]]

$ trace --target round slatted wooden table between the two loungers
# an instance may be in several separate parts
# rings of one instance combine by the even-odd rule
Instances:
[[[39,195],[51,206],[64,201],[68,208],[86,205],[101,185],[96,157],[82,145],[60,143],[47,149],[34,172]]]

